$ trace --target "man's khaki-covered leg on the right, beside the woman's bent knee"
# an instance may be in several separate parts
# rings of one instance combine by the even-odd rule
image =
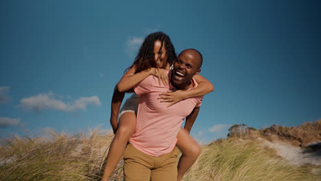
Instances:
[[[157,157],[158,162],[156,169],[152,170],[151,180],[152,181],[176,181],[177,178],[177,156],[178,148],[174,149],[163,156]]]

